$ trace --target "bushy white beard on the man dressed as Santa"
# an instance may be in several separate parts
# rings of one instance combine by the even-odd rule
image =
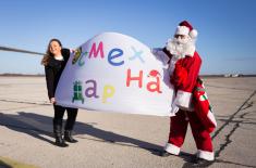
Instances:
[[[168,40],[166,48],[178,60],[186,55],[193,56],[195,52],[195,40],[190,37],[185,39],[173,38]]]

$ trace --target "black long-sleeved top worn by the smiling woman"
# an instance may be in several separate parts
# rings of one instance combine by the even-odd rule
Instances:
[[[54,92],[56,92],[56,88],[59,82],[60,76],[70,57],[70,50],[62,49],[61,54],[63,56],[63,61],[56,60],[52,56],[50,57],[48,65],[45,66],[46,83],[47,83],[49,99],[54,98]]]

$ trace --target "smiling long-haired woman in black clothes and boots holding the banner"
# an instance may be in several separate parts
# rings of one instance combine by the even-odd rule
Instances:
[[[56,138],[56,145],[61,147],[69,146],[65,141],[71,143],[77,142],[77,140],[72,138],[72,130],[78,109],[57,105],[54,99],[57,85],[69,57],[70,50],[62,49],[60,40],[51,39],[48,44],[46,55],[41,60],[41,64],[45,65],[48,96],[54,108],[53,133]],[[65,111],[68,112],[68,120],[64,128],[64,138],[62,138],[62,120]]]

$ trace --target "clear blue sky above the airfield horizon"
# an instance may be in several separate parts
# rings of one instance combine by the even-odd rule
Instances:
[[[163,47],[183,20],[198,30],[200,74],[256,74],[255,0],[2,0],[0,46],[45,52],[51,38],[76,48],[117,31]],[[39,55],[0,51],[0,74],[44,74]]]

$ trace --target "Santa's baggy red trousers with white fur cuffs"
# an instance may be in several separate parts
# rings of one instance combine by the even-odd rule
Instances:
[[[170,134],[166,151],[178,155],[182,146],[188,122],[198,150],[197,156],[207,160],[214,160],[214,150],[210,133],[205,129],[195,112],[180,109],[170,118]]]

